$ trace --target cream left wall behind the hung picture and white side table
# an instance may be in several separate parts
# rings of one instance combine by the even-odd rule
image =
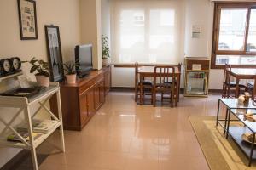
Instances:
[[[0,59],[11,56],[19,56],[22,60],[31,59],[32,56],[38,59],[47,60],[44,25],[53,24],[60,26],[61,49],[63,60],[73,59],[73,48],[80,43],[80,14],[79,0],[38,0],[38,40],[20,40],[19,19],[17,0],[0,1]],[[28,65],[23,65],[22,70],[29,74]],[[15,82],[1,82],[0,90],[3,90],[10,83],[9,88],[15,86]],[[1,116],[5,114],[9,119],[13,109],[0,109]],[[22,115],[22,114],[21,114]],[[0,123],[0,131],[3,125]],[[1,148],[0,167],[10,158],[15,156],[19,150]]]

